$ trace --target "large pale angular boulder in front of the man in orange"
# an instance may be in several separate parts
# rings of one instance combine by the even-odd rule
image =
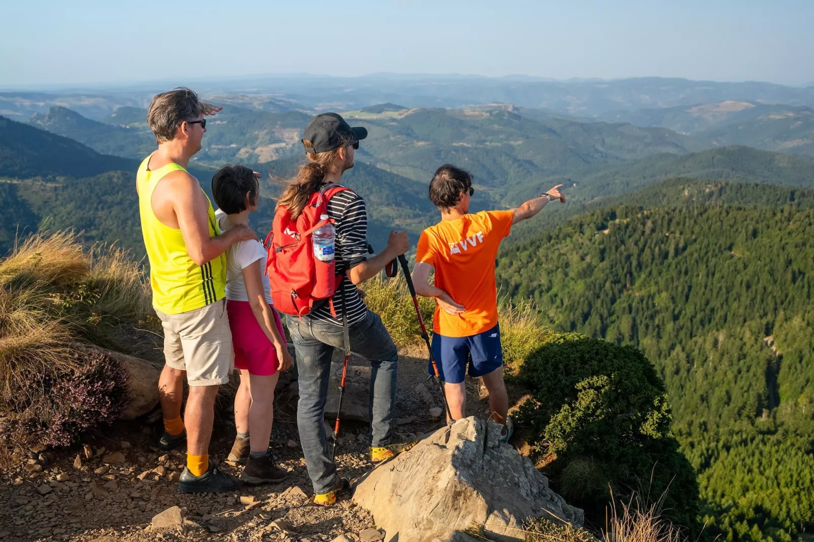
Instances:
[[[460,540],[483,525],[489,540],[524,540],[523,521],[545,516],[581,527],[582,510],[514,448],[501,427],[475,417],[423,438],[357,484],[353,500],[373,514],[386,542]],[[466,540],[466,537],[463,538]]]

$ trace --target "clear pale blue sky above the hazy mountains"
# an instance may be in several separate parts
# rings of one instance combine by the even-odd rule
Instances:
[[[309,72],[814,82],[814,0],[9,0],[0,86]]]

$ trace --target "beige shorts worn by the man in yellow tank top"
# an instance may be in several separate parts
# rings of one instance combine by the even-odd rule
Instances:
[[[234,352],[226,299],[186,313],[155,313],[164,326],[164,357],[169,367],[186,371],[190,386],[229,382]]]

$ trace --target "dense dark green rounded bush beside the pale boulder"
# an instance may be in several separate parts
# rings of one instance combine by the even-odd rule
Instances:
[[[601,525],[612,495],[663,496],[663,515],[698,533],[698,481],[670,432],[667,392],[636,348],[557,334],[527,356],[519,379],[533,398],[517,422],[550,461],[558,492]],[[647,503],[646,503],[647,504]]]

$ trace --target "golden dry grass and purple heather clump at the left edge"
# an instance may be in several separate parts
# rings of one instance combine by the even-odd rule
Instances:
[[[128,400],[124,372],[92,347],[118,342],[114,349],[132,353],[132,336],[116,338],[146,320],[150,304],[137,262],[112,247],[86,250],[72,231],[34,234],[0,260],[7,442],[71,444],[94,423],[116,419]]]

